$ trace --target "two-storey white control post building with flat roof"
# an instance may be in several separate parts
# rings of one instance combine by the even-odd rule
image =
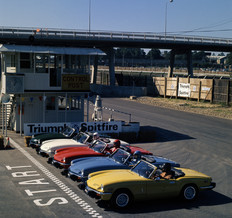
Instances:
[[[24,123],[84,121],[90,60],[101,50],[1,44],[0,55],[1,122],[7,113],[7,126],[22,133]]]

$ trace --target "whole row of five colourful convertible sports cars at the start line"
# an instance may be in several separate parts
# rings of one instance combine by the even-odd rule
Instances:
[[[135,201],[180,197],[195,200],[216,186],[212,178],[125,141],[77,131],[35,135],[29,145],[79,182],[89,196],[126,208]],[[165,175],[166,174],[166,175]]]

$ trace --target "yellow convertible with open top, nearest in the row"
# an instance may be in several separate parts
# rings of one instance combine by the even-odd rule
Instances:
[[[125,208],[137,200],[180,196],[192,201],[199,191],[216,186],[212,178],[203,173],[186,168],[169,170],[171,178],[166,179],[164,167],[159,169],[142,160],[130,170],[91,173],[85,191],[92,197],[110,201],[114,207]]]

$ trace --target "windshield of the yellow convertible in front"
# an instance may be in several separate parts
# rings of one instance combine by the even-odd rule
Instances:
[[[145,161],[140,161],[135,167],[131,169],[131,171],[137,173],[138,175],[144,178],[150,178],[153,172],[157,169],[156,166],[153,166]]]

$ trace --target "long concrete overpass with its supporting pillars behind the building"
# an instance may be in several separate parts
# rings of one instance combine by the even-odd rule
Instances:
[[[160,35],[140,32],[83,31],[52,28],[0,27],[0,43],[16,45],[88,47],[103,50],[109,58],[110,84],[115,84],[114,48],[170,49],[170,72],[173,75],[176,54],[187,54],[189,76],[193,75],[192,50],[232,52],[232,38],[184,35]],[[96,81],[97,60],[92,82]]]

